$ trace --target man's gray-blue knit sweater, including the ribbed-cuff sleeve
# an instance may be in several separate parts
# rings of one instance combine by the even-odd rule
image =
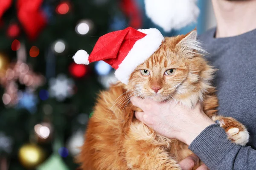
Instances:
[[[247,146],[232,144],[218,124],[210,125],[190,144],[211,170],[256,170],[256,29],[235,37],[214,38],[215,28],[199,37],[218,68],[218,113],[243,123]]]

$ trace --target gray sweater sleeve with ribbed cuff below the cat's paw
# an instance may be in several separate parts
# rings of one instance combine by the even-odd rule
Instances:
[[[205,128],[190,144],[210,170],[255,170],[256,150],[231,143],[219,124]]]

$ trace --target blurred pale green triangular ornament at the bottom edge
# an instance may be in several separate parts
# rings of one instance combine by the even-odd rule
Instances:
[[[44,163],[40,164],[36,170],[69,170],[61,156],[53,153]]]

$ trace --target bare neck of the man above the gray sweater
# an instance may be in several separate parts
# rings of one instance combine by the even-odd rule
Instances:
[[[256,29],[256,0],[212,0],[216,38],[233,37]]]

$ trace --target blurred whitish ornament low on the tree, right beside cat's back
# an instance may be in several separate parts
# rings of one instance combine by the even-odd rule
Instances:
[[[80,153],[80,147],[84,144],[84,133],[78,130],[73,134],[67,142],[67,148],[72,156],[76,156]]]

